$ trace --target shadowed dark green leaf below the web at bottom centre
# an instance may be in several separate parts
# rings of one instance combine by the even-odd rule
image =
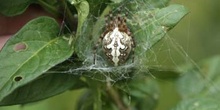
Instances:
[[[115,90],[118,91],[118,98],[132,110],[153,110],[157,105],[159,86],[153,78],[138,76],[128,82],[118,82],[115,87],[118,88]],[[109,101],[112,97],[109,97],[108,94],[103,97],[105,110],[117,110],[115,102]]]

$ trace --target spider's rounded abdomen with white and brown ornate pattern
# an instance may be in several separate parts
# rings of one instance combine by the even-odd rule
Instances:
[[[118,66],[127,60],[132,45],[132,37],[125,32],[119,31],[118,27],[106,33],[102,41],[103,51],[114,66]]]

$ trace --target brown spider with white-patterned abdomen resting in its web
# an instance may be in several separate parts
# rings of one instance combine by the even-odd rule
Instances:
[[[94,47],[94,64],[97,48],[102,43],[104,54],[114,66],[118,66],[126,62],[130,53],[134,53],[135,42],[126,25],[125,17],[120,14],[115,16],[110,12],[105,16],[105,22],[105,31]]]

